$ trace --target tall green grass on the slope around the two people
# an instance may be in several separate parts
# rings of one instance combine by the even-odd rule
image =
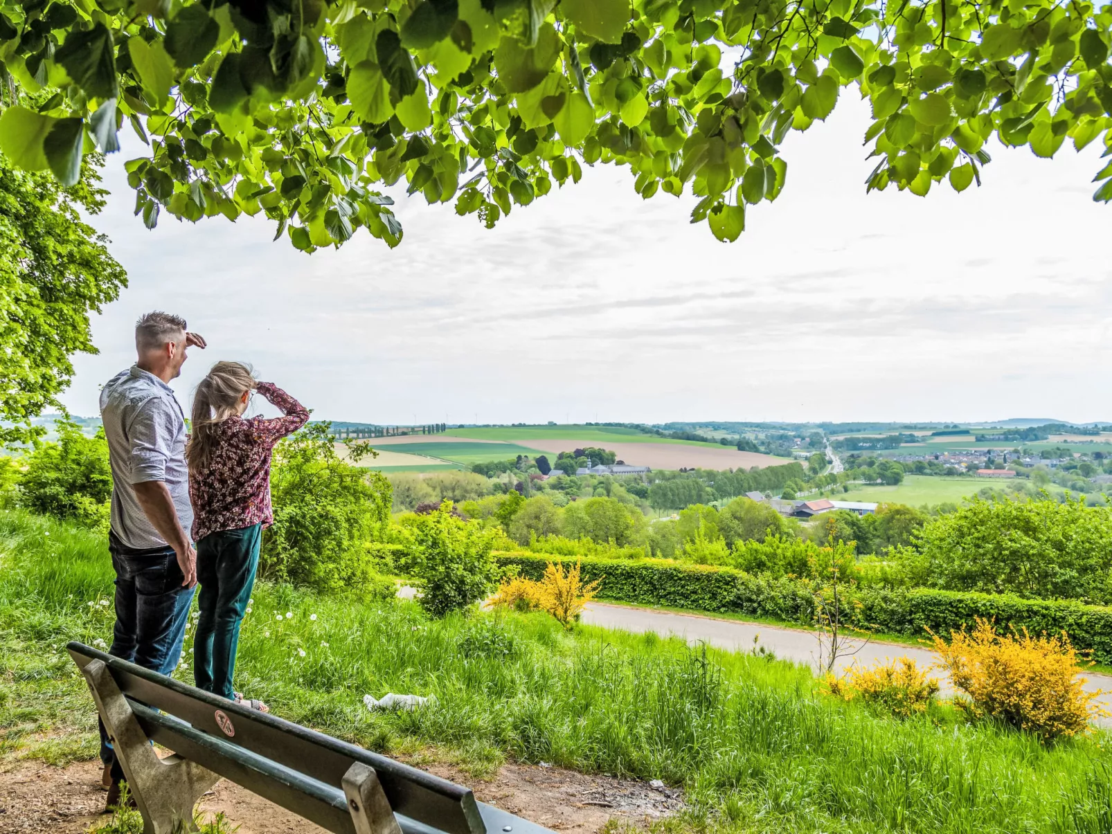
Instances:
[[[110,607],[98,602],[111,578],[91,534],[0,514],[9,752],[92,754],[92,704],[60,649],[70,638],[109,639]],[[1112,831],[1103,733],[1048,747],[992,724],[897,721],[821,695],[792,664],[654,635],[568,634],[545,615],[430,622],[408,603],[260,585],[239,657],[238,687],[284,717],[377,749],[439,745],[474,766],[510,755],[663,778],[685,786],[697,827]],[[364,694],[388,691],[437,704],[364,707]]]

